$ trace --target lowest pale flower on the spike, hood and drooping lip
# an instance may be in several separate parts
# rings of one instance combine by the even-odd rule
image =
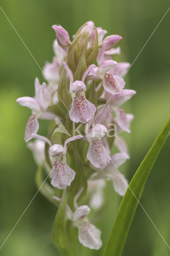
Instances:
[[[56,196],[53,196],[53,198],[59,202],[61,200]],[[87,218],[89,213],[90,208],[87,205],[77,206],[75,212],[72,212],[68,205],[66,206],[67,218],[71,220],[74,226],[79,230],[79,242],[85,247],[99,250],[102,246],[101,231],[89,222]]]

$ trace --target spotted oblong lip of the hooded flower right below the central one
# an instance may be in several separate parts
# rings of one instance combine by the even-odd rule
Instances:
[[[93,140],[90,142],[87,151],[87,159],[96,168],[103,169],[107,166],[107,163],[110,162],[110,158],[107,154],[107,149],[103,146],[102,140]]]

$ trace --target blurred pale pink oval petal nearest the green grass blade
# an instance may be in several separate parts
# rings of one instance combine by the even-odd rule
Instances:
[[[128,180],[123,174],[118,171],[115,171],[113,174],[113,186],[115,191],[120,195],[124,196],[128,188]]]

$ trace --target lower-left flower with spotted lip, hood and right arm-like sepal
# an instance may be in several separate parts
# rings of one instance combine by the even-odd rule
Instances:
[[[75,171],[66,163],[67,143],[82,137],[81,135],[73,136],[65,141],[64,146],[54,144],[49,148],[49,155],[53,159],[53,168],[49,176],[52,179],[51,185],[54,187],[65,189],[74,180]]]

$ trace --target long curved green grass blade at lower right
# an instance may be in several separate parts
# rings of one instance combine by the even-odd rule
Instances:
[[[138,200],[140,200],[142,195],[144,184],[166,138],[168,137],[169,130],[170,118],[152,144],[129,184],[119,207],[103,256],[121,256],[133,216],[138,206]]]

